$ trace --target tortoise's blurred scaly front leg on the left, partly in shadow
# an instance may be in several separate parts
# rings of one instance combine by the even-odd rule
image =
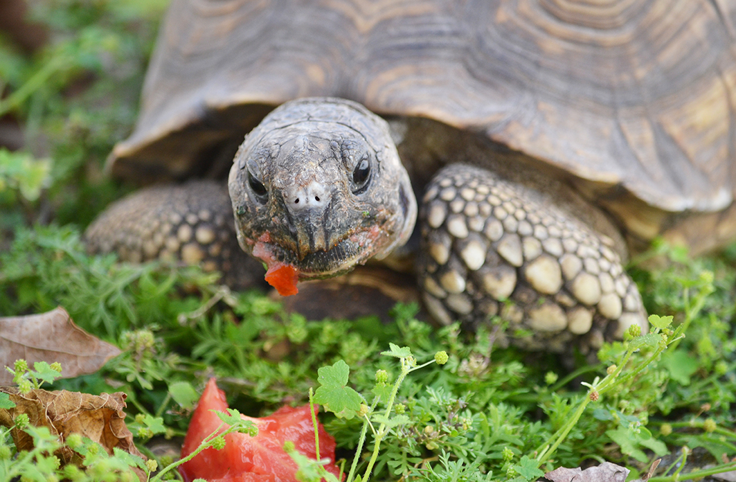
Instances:
[[[219,271],[233,288],[263,284],[263,266],[238,246],[224,182],[146,188],[110,205],[85,232],[88,251],[121,261],[157,258]]]

